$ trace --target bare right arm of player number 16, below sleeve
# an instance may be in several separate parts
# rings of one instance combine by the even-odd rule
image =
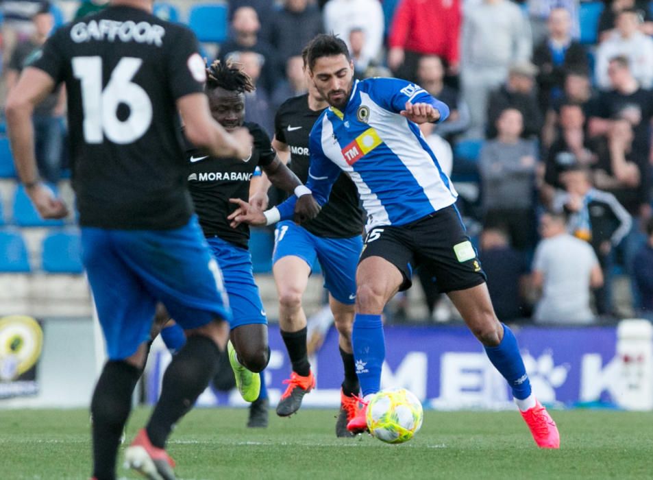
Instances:
[[[177,108],[182,113],[184,132],[190,143],[208,149],[214,156],[249,157],[252,138],[247,128],[237,128],[228,133],[211,117],[204,93],[184,95],[177,100]]]

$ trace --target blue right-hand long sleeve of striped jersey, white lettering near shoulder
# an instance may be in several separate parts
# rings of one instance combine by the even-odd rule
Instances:
[[[437,123],[449,117],[449,107],[417,84],[398,78],[371,78],[365,82],[369,82],[371,99],[386,110],[399,113],[406,110],[406,101],[410,101],[411,104],[429,104],[438,110],[440,119]]]

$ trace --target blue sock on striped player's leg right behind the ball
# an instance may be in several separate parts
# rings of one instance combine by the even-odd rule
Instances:
[[[381,389],[381,367],[386,357],[381,315],[356,313],[352,345],[362,395],[375,394]]]

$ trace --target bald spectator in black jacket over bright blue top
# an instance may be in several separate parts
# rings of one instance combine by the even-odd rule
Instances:
[[[538,68],[539,105],[546,112],[552,100],[563,95],[565,75],[569,71],[587,71],[587,51],[571,38],[571,16],[565,8],[551,10],[547,21],[548,36],[535,47],[533,63]]]

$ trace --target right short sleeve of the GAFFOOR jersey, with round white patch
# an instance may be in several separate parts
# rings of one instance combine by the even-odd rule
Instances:
[[[180,27],[167,60],[168,85],[175,100],[204,91],[206,64],[199,55],[199,44],[193,32]]]

